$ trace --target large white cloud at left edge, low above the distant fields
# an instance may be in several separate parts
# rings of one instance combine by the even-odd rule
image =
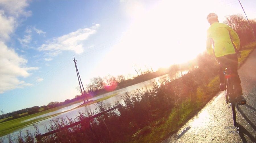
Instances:
[[[38,70],[37,67],[26,67],[27,60],[18,56],[13,50],[0,42],[0,93],[15,88],[30,86],[18,77],[28,77],[30,70]]]

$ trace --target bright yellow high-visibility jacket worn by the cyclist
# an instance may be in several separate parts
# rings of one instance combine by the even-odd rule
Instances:
[[[233,42],[233,44],[232,44]],[[212,48],[213,45],[213,48]],[[237,33],[228,25],[214,22],[207,30],[207,52],[215,57],[235,54],[240,49],[240,39]]]

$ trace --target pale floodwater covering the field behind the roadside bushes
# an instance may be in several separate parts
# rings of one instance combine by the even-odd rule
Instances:
[[[187,73],[187,71],[183,71],[182,72],[182,74],[185,74],[185,73]],[[179,77],[180,74],[177,73],[175,76]],[[149,89],[149,88],[152,87],[152,82],[154,82],[154,81],[157,84],[159,84],[164,79],[167,79],[167,78],[172,79],[173,77],[174,77],[174,75],[172,75],[172,76],[170,76],[168,74],[162,75],[160,77],[156,77],[154,79],[150,79],[148,81],[144,81],[144,82],[141,82],[141,83],[138,83],[138,84],[134,84],[134,85],[131,85],[131,86],[119,89],[119,90],[108,92],[106,94],[102,94],[100,96],[97,96],[97,97],[94,97],[94,98],[91,98],[91,99],[92,100],[97,100],[99,98],[102,98],[102,97],[109,96],[111,94],[116,94],[117,93],[116,96],[113,96],[113,97],[110,97],[110,98],[104,100],[103,101],[104,105],[108,105],[110,103],[112,103],[112,105],[113,105],[113,104],[115,104],[116,101],[119,101],[119,103],[124,104],[124,101],[123,101],[123,99],[121,99],[121,96],[124,96],[125,92],[132,92],[133,93],[136,89],[144,89],[144,90],[146,90],[146,89]],[[89,100],[91,100],[91,99],[89,99]],[[50,126],[51,120],[55,120],[57,118],[66,118],[66,117],[71,118],[71,119],[75,119],[77,116],[79,116],[79,113],[93,112],[96,108],[98,108],[97,107],[97,103],[94,103],[94,104],[91,104],[91,105],[87,105],[85,107],[80,107],[80,108],[74,109],[75,107],[78,107],[82,103],[83,102],[76,103],[76,104],[70,105],[68,107],[56,110],[54,112],[50,112],[50,113],[47,113],[47,114],[43,114],[43,115],[31,118],[31,119],[25,120],[23,122],[26,122],[26,121],[29,121],[29,120],[34,120],[36,118],[42,118],[42,117],[51,116],[51,115],[54,115],[54,114],[57,114],[57,113],[61,113],[61,114],[59,114],[57,116],[53,116],[51,118],[48,118],[48,119],[45,119],[45,120],[42,120],[42,121],[34,123],[35,125],[38,126],[39,133],[44,134],[44,133],[48,132],[47,129]],[[73,109],[73,110],[71,110],[71,109]],[[65,111],[67,111],[67,112],[65,112]],[[30,133],[32,133],[32,135],[34,135],[34,133],[36,132],[33,125],[28,125],[28,126],[25,126],[25,127],[21,128],[21,129],[18,129],[17,131],[15,131],[15,132],[13,132],[13,133],[11,133],[9,135],[2,136],[0,139],[3,139],[2,140],[3,142],[9,142],[9,139],[8,139],[9,137],[10,137],[10,139],[13,140],[13,139],[16,138],[15,136],[17,136],[20,133],[21,133],[22,136],[25,136],[26,135],[26,130],[28,130]],[[16,142],[16,141],[14,141],[14,142]]]

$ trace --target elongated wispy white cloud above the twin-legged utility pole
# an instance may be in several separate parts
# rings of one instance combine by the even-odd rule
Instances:
[[[95,24],[90,28],[78,29],[75,32],[53,38],[47,44],[38,47],[39,51],[48,51],[49,55],[56,56],[63,50],[74,51],[79,54],[84,51],[82,41],[86,40],[90,35],[97,32],[100,24]]]

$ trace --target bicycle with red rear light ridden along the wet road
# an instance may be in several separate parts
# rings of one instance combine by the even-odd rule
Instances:
[[[238,102],[237,90],[234,86],[231,68],[230,67],[225,68],[223,73],[225,76],[225,85],[226,85],[226,90],[225,90],[226,102],[227,104],[230,103],[228,108],[230,107],[232,108],[234,126],[236,126],[236,106],[237,106],[237,110],[239,111],[238,105],[240,106],[241,103]]]

